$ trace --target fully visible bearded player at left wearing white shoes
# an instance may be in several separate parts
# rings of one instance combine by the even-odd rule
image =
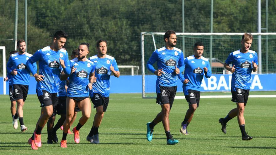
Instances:
[[[19,117],[21,132],[27,130],[23,121],[23,106],[28,96],[30,71],[27,69],[26,62],[32,56],[27,53],[26,43],[23,39],[17,42],[18,53],[12,54],[7,63],[7,71],[13,76],[13,98],[17,101],[17,114]],[[37,70],[36,64],[33,64]]]

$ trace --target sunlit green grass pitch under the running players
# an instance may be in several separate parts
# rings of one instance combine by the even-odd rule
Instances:
[[[230,95],[225,93],[202,93],[202,95]],[[250,93],[264,95],[267,92]],[[275,95],[275,92],[269,92]],[[181,94],[179,94],[181,95]],[[154,128],[153,140],[146,140],[146,123],[152,121],[161,108],[155,99],[142,99],[141,94],[111,94],[109,106],[99,128],[100,144],[86,140],[92,126],[95,109],[91,118],[81,128],[81,142],[75,144],[73,136],[67,136],[67,148],[59,143],[47,144],[47,129],[42,130],[42,147],[31,150],[27,144],[40,116],[40,103],[35,95],[29,95],[24,105],[24,123],[28,130],[13,129],[8,96],[0,96],[0,154],[276,154],[275,110],[276,98],[249,98],[245,109],[246,131],[252,141],[242,141],[241,132],[234,118],[228,122],[227,134],[223,134],[218,123],[235,107],[230,99],[201,99],[200,106],[188,127],[189,135],[179,133],[180,124],[187,111],[184,99],[176,99],[170,113],[170,127],[177,145],[166,145],[166,136],[159,123]],[[74,122],[77,125],[81,113]],[[57,116],[59,118],[59,116]],[[58,130],[59,142],[62,131]]]

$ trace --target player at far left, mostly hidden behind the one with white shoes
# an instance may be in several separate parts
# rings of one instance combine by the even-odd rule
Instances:
[[[11,56],[12,54],[17,53],[17,51],[11,51],[9,53],[9,56]],[[11,101],[11,113],[12,113],[12,117],[13,117],[13,128],[17,129],[18,128],[18,123],[17,123],[17,119],[18,119],[18,115],[16,112],[16,100],[13,98],[13,76],[8,73],[7,77],[4,78],[4,81],[8,81],[9,82],[9,96],[10,96],[10,101]]]

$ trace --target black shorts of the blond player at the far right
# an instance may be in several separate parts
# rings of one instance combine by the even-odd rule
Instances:
[[[241,89],[241,88],[231,88],[232,93],[232,100],[236,103],[244,103],[244,106],[246,106],[248,96],[249,96],[249,89]]]

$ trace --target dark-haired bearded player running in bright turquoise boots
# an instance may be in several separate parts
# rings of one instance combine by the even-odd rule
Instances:
[[[169,113],[173,106],[174,96],[177,90],[177,74],[184,70],[184,58],[180,49],[175,48],[176,34],[173,30],[167,30],[164,35],[165,47],[154,51],[147,62],[147,68],[157,75],[156,80],[156,103],[161,105],[161,112],[152,122],[147,123],[147,140],[151,141],[153,127],[162,121],[167,136],[167,144],[177,144],[170,133]],[[152,66],[157,62],[158,70]],[[178,68],[179,67],[179,68]]]

